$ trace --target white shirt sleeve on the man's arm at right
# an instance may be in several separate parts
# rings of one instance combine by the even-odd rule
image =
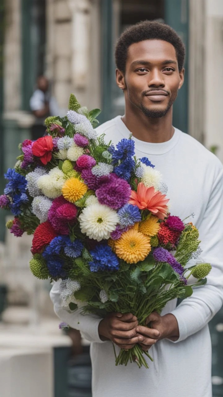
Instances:
[[[215,180],[204,216],[199,222],[202,260],[210,263],[207,284],[194,287],[191,297],[183,300],[171,313],[179,326],[179,339],[175,343],[200,331],[223,304],[223,168],[215,172]],[[210,183],[210,181],[209,181]]]

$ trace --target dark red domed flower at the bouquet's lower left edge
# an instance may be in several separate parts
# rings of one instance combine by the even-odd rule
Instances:
[[[33,246],[31,248],[31,252],[33,254],[42,252],[45,245],[49,244],[56,236],[57,233],[50,222],[46,221],[38,225],[33,235]]]

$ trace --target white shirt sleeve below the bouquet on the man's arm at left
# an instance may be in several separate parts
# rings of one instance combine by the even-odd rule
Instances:
[[[71,311],[68,306],[64,307],[59,293],[60,283],[61,281],[56,281],[50,291],[50,299],[54,304],[56,315],[70,327],[81,331],[81,335],[89,342],[104,343],[98,333],[98,326],[102,318],[94,314],[83,315],[80,308]]]

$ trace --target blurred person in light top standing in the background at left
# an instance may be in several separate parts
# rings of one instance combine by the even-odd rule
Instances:
[[[51,95],[49,81],[45,76],[39,76],[37,79],[37,89],[29,101],[30,109],[35,116],[35,123],[31,128],[32,140],[36,141],[42,137],[46,131],[44,120],[48,116],[60,114],[56,99]]]

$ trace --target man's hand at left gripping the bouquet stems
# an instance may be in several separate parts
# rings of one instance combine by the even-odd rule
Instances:
[[[109,313],[100,322],[98,332],[102,340],[111,340],[121,349],[131,349],[138,343],[138,320],[131,313]]]

